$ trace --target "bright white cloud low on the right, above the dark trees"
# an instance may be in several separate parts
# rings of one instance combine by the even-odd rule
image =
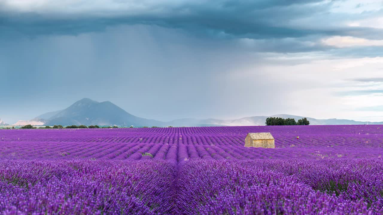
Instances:
[[[340,92],[383,90],[381,82],[354,81],[361,78],[382,78],[382,57],[323,60],[317,59],[316,56],[302,56],[302,59],[306,62],[297,65],[273,64],[272,62],[296,60],[295,55],[275,55],[267,60],[263,59],[262,65],[238,68],[227,78],[235,81],[246,80],[246,83],[252,83],[254,86],[259,85],[261,81],[267,83],[267,91],[273,90],[270,98],[279,98],[280,103],[277,104],[277,109],[273,107],[272,111],[264,110],[265,114],[286,113],[317,119],[355,120],[372,119],[365,118],[366,114],[382,116],[378,111],[356,111],[362,107],[381,105],[383,95],[380,93],[339,95]],[[257,93],[264,92],[252,94]],[[383,117],[375,117],[373,121],[383,121]]]

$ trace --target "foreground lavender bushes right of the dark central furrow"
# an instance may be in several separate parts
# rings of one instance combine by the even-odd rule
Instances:
[[[300,168],[305,161],[182,163],[177,171],[175,214],[383,214],[382,160],[311,161]],[[339,162],[344,165],[325,171]],[[351,176],[350,169],[357,166],[372,167],[365,176]],[[343,171],[347,173],[342,175]],[[358,182],[348,181],[345,189],[341,181],[347,180]]]

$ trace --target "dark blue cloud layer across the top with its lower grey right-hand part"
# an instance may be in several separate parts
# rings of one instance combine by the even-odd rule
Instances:
[[[85,3],[84,3],[85,2]],[[129,2],[103,10],[80,1],[77,8],[62,4],[61,9],[14,10],[0,2],[0,39],[36,38],[44,35],[80,35],[103,32],[120,25],[150,25],[176,29],[205,40],[231,41],[234,49],[250,52],[327,52],[333,56],[383,56],[381,47],[338,48],[326,46],[321,39],[328,36],[354,36],[367,39],[383,37],[381,29],[346,26],[345,21],[377,16],[378,12],[359,15],[332,13],[334,1],[322,0],[218,0],[139,2],[142,7],[129,9]],[[82,5],[83,4],[83,5]],[[69,9],[68,9],[69,8]],[[58,11],[57,11],[58,10]],[[303,21],[302,21],[303,20]],[[242,39],[250,39],[244,42]]]

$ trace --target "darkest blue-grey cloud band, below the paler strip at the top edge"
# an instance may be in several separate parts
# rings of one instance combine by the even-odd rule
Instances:
[[[220,0],[204,3],[164,2],[154,6],[146,5],[146,8],[137,12],[116,9],[101,15],[92,11],[76,14],[65,8],[58,14],[2,10],[0,32],[3,37],[73,35],[102,31],[107,26],[118,24],[150,24],[223,39],[281,39],[312,35],[363,38],[383,36],[380,29],[343,26],[341,22],[347,20],[347,17],[330,13],[331,5],[332,2],[320,0]],[[313,19],[313,22],[305,25],[291,24],[300,19]],[[318,27],[322,22],[327,23],[327,26]]]

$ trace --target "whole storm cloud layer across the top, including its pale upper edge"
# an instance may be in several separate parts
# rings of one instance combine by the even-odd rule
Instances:
[[[119,24],[148,24],[184,29],[215,38],[303,38],[355,36],[381,38],[377,28],[349,26],[347,21],[380,16],[364,11],[332,13],[337,1],[218,0],[2,0],[3,34],[80,34]]]

